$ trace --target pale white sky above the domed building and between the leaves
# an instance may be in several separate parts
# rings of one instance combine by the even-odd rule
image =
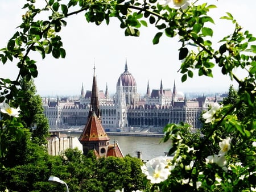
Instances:
[[[37,0],[43,3],[43,0]],[[214,30],[212,41],[214,46],[222,37],[232,34],[234,26],[228,20],[220,19],[225,12],[230,12],[243,27],[256,36],[254,18],[256,18],[256,1],[247,0],[200,0],[199,3],[208,2],[218,8],[210,10],[210,16],[215,25],[210,25]],[[25,10],[21,8],[26,3],[22,0],[0,0],[0,48],[6,47],[7,41],[22,22]],[[158,30],[154,26],[141,27],[139,37],[126,37],[125,31],[119,27],[117,19],[110,19],[110,24],[96,26],[88,23],[83,14],[73,15],[64,19],[67,26],[63,27],[60,36],[66,50],[65,59],[54,59],[47,55],[42,60],[39,53],[32,53],[31,59],[36,60],[39,75],[35,78],[37,93],[42,96],[79,95],[81,86],[85,90],[92,89],[93,67],[95,64],[98,89],[104,90],[106,84],[110,94],[114,94],[119,76],[125,70],[125,62],[129,72],[137,82],[137,91],[144,95],[149,82],[150,89],[159,89],[163,82],[164,89],[173,89],[174,81],[177,91],[183,93],[204,92],[224,93],[230,84],[237,87],[236,82],[230,81],[228,76],[223,76],[220,69],[213,69],[213,78],[198,77],[188,78],[181,82],[182,74],[178,73],[181,61],[178,59],[180,48],[179,39],[163,36],[159,44],[153,45],[152,39]],[[15,80],[18,74],[16,62],[0,63],[0,78]],[[245,74],[237,70],[238,77]]]

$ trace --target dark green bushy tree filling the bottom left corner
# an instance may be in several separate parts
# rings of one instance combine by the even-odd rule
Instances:
[[[48,180],[52,167],[57,166],[57,158],[49,156],[43,146],[32,142],[31,132],[27,129],[19,140],[14,137],[4,141],[9,145],[9,151],[5,158],[1,158],[5,168],[1,168],[0,191],[6,188],[11,191],[47,191],[40,187],[46,184],[43,181]]]

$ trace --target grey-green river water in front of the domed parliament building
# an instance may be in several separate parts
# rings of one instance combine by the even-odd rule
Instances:
[[[71,136],[79,137],[80,135]],[[163,156],[164,152],[168,152],[170,149],[170,141],[167,143],[159,143],[161,137],[138,137],[138,136],[113,136],[108,135],[110,138],[110,144],[116,141],[121,148],[124,156],[130,155],[137,157],[137,152],[141,151],[142,160],[150,160],[151,158]]]

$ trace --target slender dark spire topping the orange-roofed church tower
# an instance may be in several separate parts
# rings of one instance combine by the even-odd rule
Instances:
[[[92,85],[92,95],[90,97],[90,111],[88,118],[92,115],[92,112],[95,112],[97,117],[101,119],[100,117],[100,105],[98,102],[98,87],[97,87],[97,81],[96,81],[96,75],[95,75],[95,64],[93,67],[93,85]]]

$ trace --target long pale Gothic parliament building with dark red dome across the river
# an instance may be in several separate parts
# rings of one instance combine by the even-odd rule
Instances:
[[[79,98],[46,98],[44,113],[50,127],[56,129],[76,126],[82,130],[82,126],[88,121],[93,98],[93,92],[89,90],[85,93],[83,85]],[[114,97],[109,97],[106,85],[105,92],[97,91],[97,98],[101,124],[107,132],[162,132],[166,124],[180,122],[190,124],[191,128],[200,128],[201,112],[214,102],[204,96],[188,100],[177,92],[175,82],[172,90],[164,89],[162,80],[160,89],[152,91],[147,82],[146,94],[141,97],[137,93],[135,78],[128,71],[127,61],[125,71],[117,80]]]

